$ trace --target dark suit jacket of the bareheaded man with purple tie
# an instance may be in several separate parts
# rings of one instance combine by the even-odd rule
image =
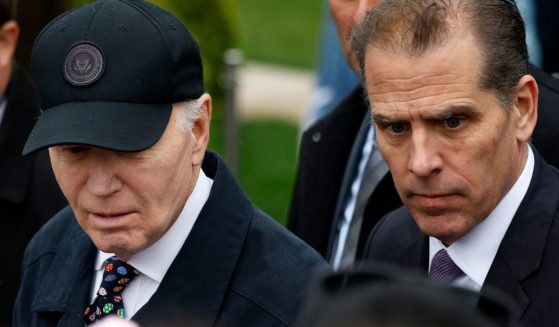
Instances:
[[[559,171],[535,152],[532,181],[489,269],[481,292],[496,288],[517,304],[520,326],[557,326],[559,315]],[[398,237],[395,237],[397,235]],[[426,274],[429,241],[402,207],[371,233],[366,259]]]

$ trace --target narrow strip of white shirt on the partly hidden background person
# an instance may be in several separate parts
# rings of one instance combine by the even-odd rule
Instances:
[[[367,161],[372,155],[373,145],[375,144],[375,129],[373,125],[369,125],[369,130],[367,131],[367,136],[365,139],[365,144],[363,145],[363,150],[361,151],[361,159],[359,160],[359,166],[357,166],[357,175],[351,184],[350,196],[346,203],[344,210],[344,217],[340,224],[340,229],[337,237],[336,244],[334,244],[334,255],[332,259],[332,267],[334,270],[339,269],[340,263],[342,261],[342,254],[344,253],[344,248],[347,241],[347,235],[349,233],[349,226],[351,224],[351,219],[353,217],[353,212],[355,211],[355,206],[357,202],[357,195],[359,194],[359,188],[361,186],[361,181],[363,180],[363,174],[365,173],[365,166]]]

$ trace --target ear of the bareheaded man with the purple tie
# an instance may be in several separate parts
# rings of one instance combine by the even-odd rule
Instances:
[[[516,138],[528,142],[538,121],[538,83],[531,75],[524,75],[518,81],[515,109],[518,112],[516,121]]]

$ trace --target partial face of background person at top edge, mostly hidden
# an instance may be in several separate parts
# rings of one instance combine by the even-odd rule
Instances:
[[[356,67],[356,61],[349,51],[351,29],[363,19],[368,10],[380,2],[381,0],[330,0],[330,12],[336,23],[340,44],[351,67]]]

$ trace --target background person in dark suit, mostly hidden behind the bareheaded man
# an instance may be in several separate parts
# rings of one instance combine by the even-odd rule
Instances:
[[[349,51],[352,27],[380,2],[329,2],[345,60],[354,70],[355,59]],[[370,121],[369,105],[359,84],[305,130],[301,139],[288,228],[335,269],[361,258],[375,223],[402,204],[375,145]]]

